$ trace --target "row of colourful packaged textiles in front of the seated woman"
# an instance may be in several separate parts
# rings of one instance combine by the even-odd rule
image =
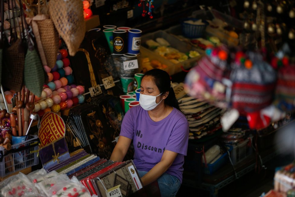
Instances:
[[[47,172],[56,171],[69,178],[76,177],[90,194],[107,196],[107,191],[120,185],[122,196],[135,193],[143,187],[141,179],[132,160],[113,162],[88,154],[84,149],[70,153],[68,160],[60,162]]]

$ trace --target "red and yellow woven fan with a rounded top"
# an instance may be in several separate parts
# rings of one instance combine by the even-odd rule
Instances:
[[[46,144],[64,137],[65,122],[63,119],[53,112],[46,112],[40,123],[38,137],[40,139],[40,148]]]

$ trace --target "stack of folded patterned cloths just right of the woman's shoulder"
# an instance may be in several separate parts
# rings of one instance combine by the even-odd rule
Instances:
[[[183,83],[173,84],[173,89],[179,108],[189,121],[189,139],[200,139],[220,130],[220,117],[224,110],[204,100],[188,96],[183,85]]]

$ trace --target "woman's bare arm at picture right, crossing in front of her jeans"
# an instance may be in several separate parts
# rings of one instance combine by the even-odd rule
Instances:
[[[141,177],[144,186],[157,180],[172,165],[178,153],[164,150],[161,161],[157,163],[148,173]]]

